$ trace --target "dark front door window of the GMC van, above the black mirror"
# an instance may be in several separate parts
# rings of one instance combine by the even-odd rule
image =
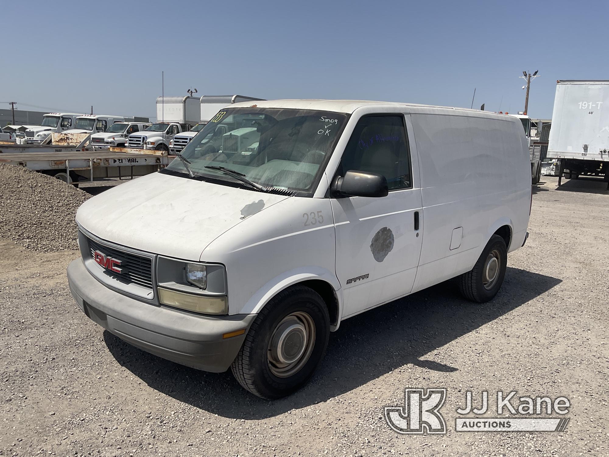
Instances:
[[[387,178],[389,190],[412,187],[404,116],[372,115],[361,118],[340,161],[339,174],[348,170],[382,174]]]

